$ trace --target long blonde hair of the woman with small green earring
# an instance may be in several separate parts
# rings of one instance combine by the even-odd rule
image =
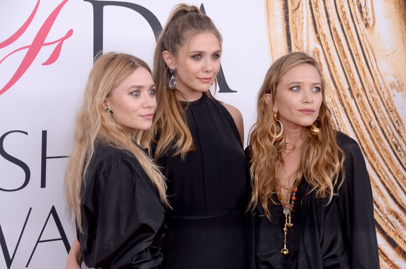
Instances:
[[[66,204],[76,218],[80,231],[82,231],[80,187],[97,142],[131,152],[157,188],[161,201],[169,206],[164,176],[149,156],[133,142],[124,128],[106,113],[104,107],[104,100],[112,89],[138,68],[145,68],[151,73],[148,64],[143,60],[129,54],[109,52],[97,58],[90,72],[83,106],[76,119],[73,149],[65,174]]]

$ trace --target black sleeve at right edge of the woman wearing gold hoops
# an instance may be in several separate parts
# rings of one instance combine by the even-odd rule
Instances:
[[[344,243],[352,268],[379,268],[378,244],[371,182],[361,149],[352,138],[339,133],[346,154],[345,178],[338,190]]]

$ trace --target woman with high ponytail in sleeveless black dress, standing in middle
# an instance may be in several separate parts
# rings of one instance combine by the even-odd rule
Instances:
[[[249,265],[249,186],[242,116],[214,99],[221,35],[195,6],[177,5],[155,49],[152,154],[168,179],[169,269]]]

